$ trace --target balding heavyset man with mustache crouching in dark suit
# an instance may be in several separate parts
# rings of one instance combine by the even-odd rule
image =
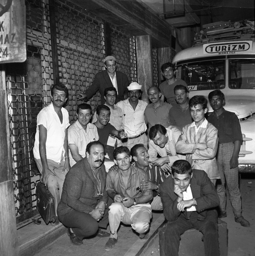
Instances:
[[[107,173],[102,164],[104,155],[101,142],[89,142],[86,157],[66,175],[57,214],[63,225],[67,226],[67,234],[74,245],[83,245],[83,238],[95,234],[100,237],[110,235],[99,228],[106,228],[108,224],[105,212],[108,201],[105,190]]]

